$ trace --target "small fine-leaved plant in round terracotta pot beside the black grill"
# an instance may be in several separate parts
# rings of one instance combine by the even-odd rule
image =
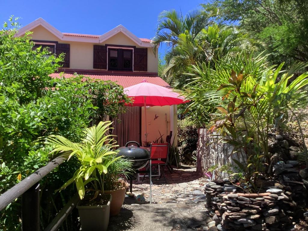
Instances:
[[[115,158],[115,156],[114,156]],[[108,172],[104,177],[104,192],[109,193],[112,196],[110,205],[110,216],[115,216],[120,213],[120,209],[123,205],[126,187],[125,182],[119,180],[120,177],[125,176],[128,178],[134,171],[132,169],[133,162],[127,159],[117,159],[108,167]]]

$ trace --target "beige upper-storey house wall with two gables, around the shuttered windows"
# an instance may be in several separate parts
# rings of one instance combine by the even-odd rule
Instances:
[[[37,26],[31,31],[33,32],[31,37],[34,40],[48,40],[70,44],[70,68],[74,69],[93,69],[93,45],[115,44],[143,48],[121,32],[115,34],[103,43],[86,43],[62,41],[43,26]],[[156,54],[157,53],[156,51]],[[148,72],[158,72],[158,58],[155,57],[151,48],[148,48]]]

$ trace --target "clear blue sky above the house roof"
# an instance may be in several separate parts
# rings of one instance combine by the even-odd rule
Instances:
[[[140,38],[152,38],[157,16],[163,10],[181,10],[186,14],[205,0],[109,0],[109,1],[1,1],[0,21],[10,15],[20,17],[22,26],[41,17],[67,33],[104,34],[122,24]],[[3,24],[3,23],[2,23]],[[160,52],[164,53],[165,46]]]

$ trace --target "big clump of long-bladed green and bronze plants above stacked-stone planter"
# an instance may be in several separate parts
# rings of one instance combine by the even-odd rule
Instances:
[[[201,107],[213,112],[209,131],[217,135],[211,136],[234,147],[231,155],[237,158],[233,160],[253,187],[264,161],[270,164],[268,133],[294,103],[289,96],[300,94],[308,84],[308,72],[289,84],[288,80],[307,65],[297,63],[282,71],[283,63],[267,66],[266,56],[238,54],[215,61],[215,68],[205,63],[192,67],[193,81],[183,91],[187,99],[193,100],[190,109]]]

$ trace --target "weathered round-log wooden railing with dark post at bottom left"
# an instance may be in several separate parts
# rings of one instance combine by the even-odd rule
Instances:
[[[57,168],[67,159],[67,156],[59,156],[51,160],[47,165],[39,168],[36,172],[27,176],[24,180],[0,195],[0,211],[6,208],[16,198],[22,197],[22,230],[39,231],[40,230],[40,201],[39,201],[39,181],[42,180],[53,169]],[[44,231],[56,231],[62,222],[76,207],[79,196],[76,193],[70,201],[63,207],[57,216],[51,221]]]

